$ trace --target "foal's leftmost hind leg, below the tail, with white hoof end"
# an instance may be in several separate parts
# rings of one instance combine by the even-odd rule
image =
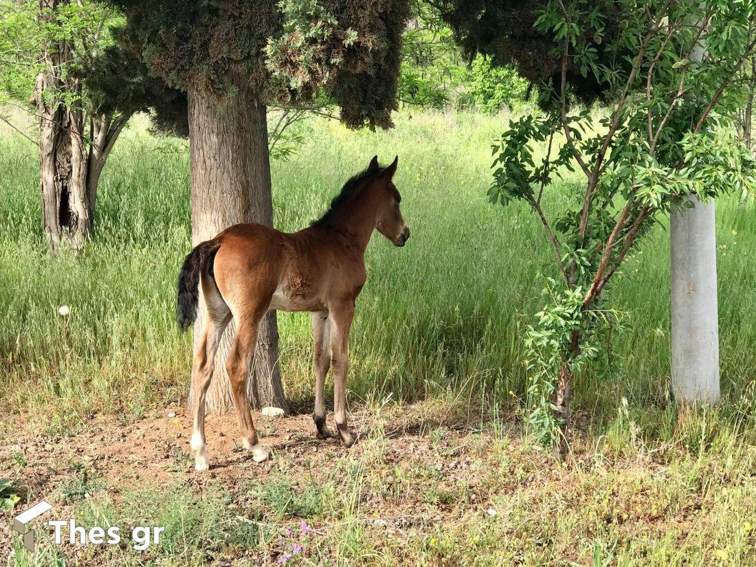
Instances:
[[[194,390],[194,432],[191,436],[191,448],[194,452],[194,468],[207,470],[209,463],[205,454],[205,395],[212,380],[215,369],[215,353],[218,352],[223,331],[231,321],[231,311],[222,297],[215,290],[215,284],[211,283],[212,289],[204,285],[205,305],[207,307],[205,328],[203,330],[200,346],[194,354],[192,364],[192,389]]]

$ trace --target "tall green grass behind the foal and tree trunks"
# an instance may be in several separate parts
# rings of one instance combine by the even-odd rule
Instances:
[[[530,212],[491,206],[490,142],[506,116],[400,113],[386,132],[305,125],[305,144],[274,163],[277,228],[305,226],[344,181],[378,154],[399,156],[395,178],[412,238],[395,249],[376,234],[358,299],[353,400],[438,396],[514,404],[525,389],[522,326],[541,307],[539,274],[553,270]],[[187,144],[135,122],[116,144],[98,199],[97,228],[79,256],[48,256],[40,227],[36,148],[0,140],[0,396],[14,413],[65,428],[95,411],[141,417],[183,403],[191,333],[174,323],[175,277],[190,249]],[[578,178],[547,197],[555,210]],[[735,404],[756,377],[756,210],[737,196],[717,208],[722,387]],[[614,336],[613,377],[579,377],[576,407],[614,415],[621,398],[663,414],[669,390],[668,234],[643,240],[606,296],[627,312]],[[60,305],[70,306],[67,318]],[[310,320],[278,315],[289,398],[311,401]],[[513,392],[514,396],[509,392]],[[44,411],[42,411],[44,410]]]

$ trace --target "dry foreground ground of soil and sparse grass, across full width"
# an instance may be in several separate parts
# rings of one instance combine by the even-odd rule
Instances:
[[[315,438],[308,414],[253,417],[270,459],[255,463],[241,447],[234,415],[209,416],[202,473],[183,407],[133,423],[94,417],[68,436],[18,423],[11,430],[22,433],[0,446],[0,478],[14,478],[16,510],[45,498],[57,519],[79,525],[102,525],[102,510],[114,521],[172,522],[172,541],[141,555],[50,546],[68,564],[276,565],[296,543],[292,531],[302,550],[289,567],[754,564],[748,452],[708,463],[683,442],[648,448],[628,437],[599,448],[578,414],[560,464],[516,416],[432,402],[353,409],[349,449]],[[300,522],[314,531],[299,533]],[[0,522],[0,556],[17,540]]]

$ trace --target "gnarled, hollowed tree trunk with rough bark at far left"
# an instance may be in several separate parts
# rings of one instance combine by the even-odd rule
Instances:
[[[69,0],[39,0],[39,20],[56,22]],[[91,230],[100,174],[129,115],[88,118],[82,110],[81,80],[69,72],[73,45],[57,39],[39,54],[43,65],[31,104],[39,119],[42,229],[51,251],[64,240],[81,248]],[[91,141],[85,140],[89,122]]]

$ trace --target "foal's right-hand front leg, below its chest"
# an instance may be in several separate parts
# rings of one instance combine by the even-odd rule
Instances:
[[[355,302],[339,302],[330,309],[331,358],[333,365],[333,420],[345,447],[355,438],[346,423],[346,375],[349,370],[349,329],[355,316]]]

